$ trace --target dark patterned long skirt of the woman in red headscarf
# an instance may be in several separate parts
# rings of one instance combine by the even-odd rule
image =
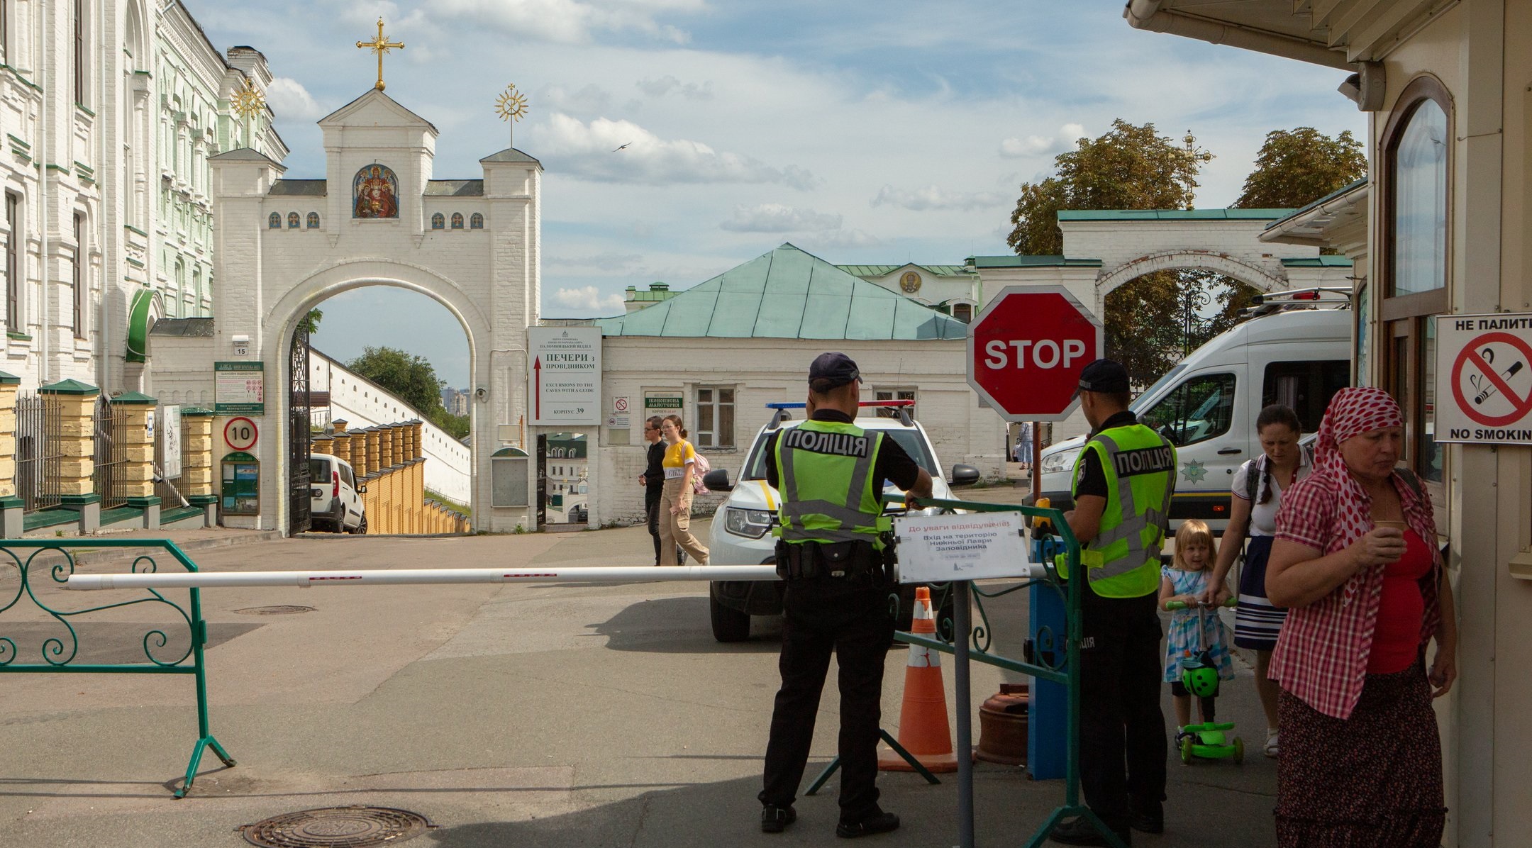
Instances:
[[[1442,739],[1425,664],[1367,675],[1351,718],[1278,696],[1276,843],[1437,848],[1446,824]]]

